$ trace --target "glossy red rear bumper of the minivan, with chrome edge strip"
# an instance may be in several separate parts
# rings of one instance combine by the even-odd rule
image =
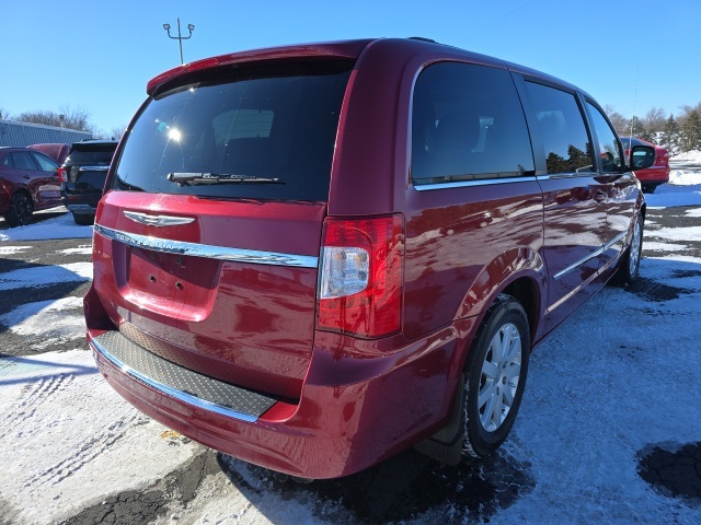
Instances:
[[[266,468],[334,478],[390,457],[444,424],[473,328],[470,319],[458,325],[392,351],[383,347],[395,338],[358,341],[318,332],[301,398],[273,399],[253,418],[193,402],[192,393],[130,373],[105,353],[104,330],[89,329],[88,339],[107,382],[153,419]]]

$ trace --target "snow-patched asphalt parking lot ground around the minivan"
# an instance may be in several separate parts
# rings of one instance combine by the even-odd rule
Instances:
[[[119,398],[84,342],[89,226],[61,209],[16,235],[0,220],[0,524],[699,523],[701,207],[665,199],[700,189],[651,197],[641,278],[536,350],[496,456],[443,467],[410,451],[311,485]]]

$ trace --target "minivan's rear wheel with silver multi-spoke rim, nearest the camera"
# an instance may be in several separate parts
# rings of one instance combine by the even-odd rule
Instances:
[[[506,440],[524,397],[529,354],[526,312],[510,295],[499,295],[466,365],[463,455],[489,456]]]

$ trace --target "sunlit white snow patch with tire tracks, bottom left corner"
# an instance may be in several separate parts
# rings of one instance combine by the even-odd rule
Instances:
[[[3,361],[0,502],[9,509],[0,523],[56,523],[101,494],[159,480],[198,452],[115,394],[90,352]]]

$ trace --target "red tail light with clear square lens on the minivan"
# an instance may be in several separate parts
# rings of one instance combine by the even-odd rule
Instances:
[[[402,217],[326,219],[324,230],[317,327],[368,338],[399,331]]]

